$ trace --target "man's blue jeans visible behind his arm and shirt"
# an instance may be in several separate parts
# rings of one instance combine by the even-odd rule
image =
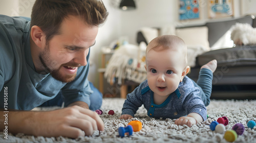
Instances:
[[[101,107],[102,93],[96,87],[94,87],[91,82],[89,83],[91,89],[93,90],[93,93],[90,96],[91,105],[89,109],[95,111]],[[54,99],[45,102],[44,104],[40,105],[40,107],[61,106],[62,103],[62,94],[59,92]]]

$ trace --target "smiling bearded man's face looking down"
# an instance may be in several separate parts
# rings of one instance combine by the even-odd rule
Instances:
[[[75,16],[66,18],[60,34],[46,41],[44,51],[39,54],[42,65],[56,80],[73,81],[77,68],[87,65],[89,48],[95,44],[97,33],[98,27],[89,27]]]

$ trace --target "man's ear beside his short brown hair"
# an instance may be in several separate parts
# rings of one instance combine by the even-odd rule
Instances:
[[[46,36],[38,26],[32,26],[31,28],[31,39],[38,47],[45,47]]]

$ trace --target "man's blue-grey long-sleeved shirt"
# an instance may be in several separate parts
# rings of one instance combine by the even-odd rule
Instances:
[[[89,55],[87,60],[89,60]],[[71,83],[35,71],[30,51],[30,21],[0,15],[0,106],[31,110],[62,92],[65,106],[83,101],[90,106],[93,92],[87,79],[89,62],[77,70]],[[8,97],[7,97],[8,96]]]

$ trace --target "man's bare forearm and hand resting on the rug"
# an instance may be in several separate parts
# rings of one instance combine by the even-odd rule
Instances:
[[[57,137],[92,135],[104,130],[104,124],[96,112],[79,106],[53,111],[10,111],[8,130],[11,133]]]

